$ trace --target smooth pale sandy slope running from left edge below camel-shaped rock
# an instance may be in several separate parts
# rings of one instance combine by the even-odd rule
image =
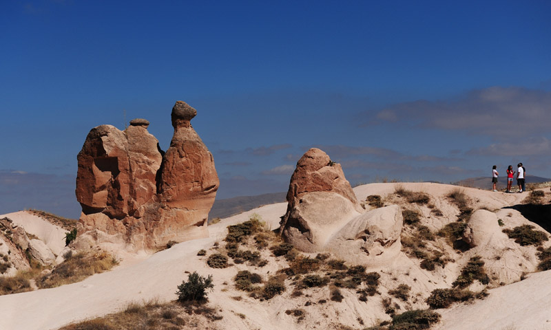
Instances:
[[[276,228],[280,216],[287,208],[286,203],[263,206],[253,211],[238,214],[225,219],[216,225],[209,226],[210,237],[174,245],[171,249],[158,252],[148,259],[138,263],[127,263],[111,272],[96,274],[80,283],[64,285],[54,289],[41,289],[23,294],[0,296],[0,329],[2,330],[47,330],[58,329],[73,320],[82,320],[93,316],[108,314],[124,308],[133,301],[141,302],[152,298],[174,300],[176,287],[187,279],[185,271],[197,271],[202,275],[213,274],[214,285],[218,290],[209,296],[214,305],[223,304],[223,308],[232,309],[236,313],[247,314],[249,320],[239,321],[239,324],[227,324],[234,318],[224,318],[220,321],[222,329],[238,329],[248,327],[245,322],[253,322],[262,329],[278,329],[266,324],[267,318],[262,311],[250,313],[247,306],[231,306],[234,300],[220,294],[222,282],[227,270],[213,270],[205,261],[196,256],[198,250],[210,248],[215,241],[221,241],[225,236],[225,228],[231,223],[249,219],[253,212],[262,215],[264,221]],[[228,301],[218,302],[220,299]],[[258,320],[255,320],[258,318]],[[237,318],[240,319],[240,318]],[[277,324],[277,321],[275,321]]]

